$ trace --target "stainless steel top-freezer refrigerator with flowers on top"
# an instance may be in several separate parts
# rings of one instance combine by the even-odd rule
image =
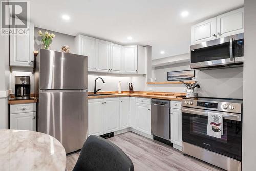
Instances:
[[[36,61],[37,131],[77,151],[87,138],[87,56],[40,49]]]

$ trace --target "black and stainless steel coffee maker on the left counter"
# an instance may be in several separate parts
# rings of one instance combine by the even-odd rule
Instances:
[[[15,98],[29,99],[30,98],[30,77],[15,76]]]

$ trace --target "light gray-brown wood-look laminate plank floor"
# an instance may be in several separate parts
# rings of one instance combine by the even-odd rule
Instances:
[[[109,138],[119,146],[132,160],[136,171],[140,170],[181,170],[181,171],[220,171],[209,165],[155,140],[145,138],[133,132],[127,132]],[[71,171],[79,153],[67,156],[67,171]]]

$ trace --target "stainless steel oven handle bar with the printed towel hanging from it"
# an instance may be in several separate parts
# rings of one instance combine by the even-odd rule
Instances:
[[[191,109],[191,108],[182,107],[182,113],[183,112],[188,114],[202,115],[202,116],[208,116],[208,112],[214,112],[214,113],[222,114],[223,118],[225,119],[241,121],[241,114],[236,114],[236,113],[217,112],[217,111]]]

